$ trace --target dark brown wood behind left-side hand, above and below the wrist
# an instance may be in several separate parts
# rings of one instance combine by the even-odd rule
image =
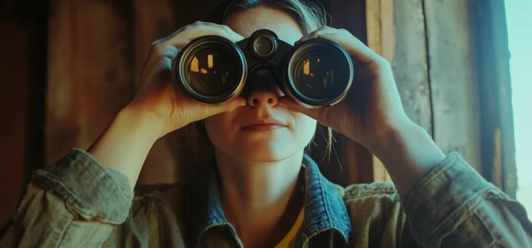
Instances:
[[[181,2],[132,1],[133,10],[133,77],[138,84],[150,45],[175,30],[194,21],[203,20],[214,9],[214,1]],[[173,183],[201,171],[213,157],[206,137],[197,137],[191,145],[191,126],[176,130],[160,140],[150,150],[139,176],[140,184]],[[196,156],[197,155],[197,156]]]

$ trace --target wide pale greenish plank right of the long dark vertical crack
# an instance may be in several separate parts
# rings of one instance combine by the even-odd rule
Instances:
[[[424,0],[433,138],[481,171],[480,106],[475,57],[475,1]],[[412,51],[412,50],[409,50]]]

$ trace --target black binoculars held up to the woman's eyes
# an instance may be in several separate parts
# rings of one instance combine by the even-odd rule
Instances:
[[[254,83],[246,82],[248,76],[261,69],[306,108],[342,101],[353,81],[353,62],[337,43],[316,38],[294,47],[265,29],[238,43],[216,35],[196,38],[172,62],[174,84],[207,105],[239,96],[245,84]]]

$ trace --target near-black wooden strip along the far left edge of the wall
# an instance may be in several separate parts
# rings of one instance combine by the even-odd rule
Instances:
[[[43,166],[47,18],[44,1],[0,2],[0,225]]]

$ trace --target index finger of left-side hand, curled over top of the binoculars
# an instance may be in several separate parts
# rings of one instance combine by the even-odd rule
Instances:
[[[243,40],[242,35],[235,33],[228,26],[196,22],[177,30],[166,38],[155,41],[155,45],[161,45],[162,47],[172,45],[174,47],[182,48],[190,41],[205,35],[218,35],[231,40],[233,43]]]

